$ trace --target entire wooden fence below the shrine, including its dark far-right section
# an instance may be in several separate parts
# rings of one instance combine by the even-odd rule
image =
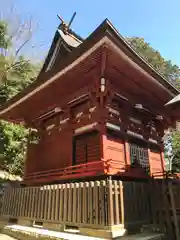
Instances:
[[[1,216],[96,229],[152,224],[179,239],[180,183],[103,180],[7,189]]]

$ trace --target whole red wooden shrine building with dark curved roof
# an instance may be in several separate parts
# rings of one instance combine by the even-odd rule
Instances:
[[[86,39],[62,25],[37,80],[0,109],[30,129],[24,181],[164,171],[162,137],[178,90],[105,20]]]

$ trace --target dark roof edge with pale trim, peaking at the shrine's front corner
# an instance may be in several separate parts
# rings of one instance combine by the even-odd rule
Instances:
[[[3,118],[4,114],[9,110],[17,107],[27,98],[32,97],[34,94],[37,94],[38,91],[41,91],[44,87],[47,87],[49,84],[59,79],[62,74],[65,74],[65,72],[82,62],[98,47],[109,43],[112,43],[116,46],[116,48],[119,48],[134,63],[147,72],[147,74],[154,79],[154,82],[156,82],[159,87],[161,86],[167,91],[169,99],[180,93],[177,88],[169,83],[155,69],[153,69],[150,64],[140,57],[106,19],[86,40],[76,47],[73,52],[64,59],[64,61],[59,63],[58,73],[50,71],[49,73],[47,72],[46,75],[41,74],[38,81],[29,86],[23,93],[15,96],[0,109],[0,117]]]

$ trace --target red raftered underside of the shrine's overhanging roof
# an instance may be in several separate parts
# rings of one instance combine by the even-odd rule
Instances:
[[[135,64],[111,41],[104,42],[93,53],[62,74],[51,84],[31,95],[8,111],[1,113],[1,119],[8,121],[25,121],[30,124],[40,114],[52,107],[66,104],[74,89],[84,87],[91,77],[99,74],[103,46],[107,49],[106,78],[113,81],[117,89],[126,95],[132,104],[142,103],[151,110],[166,116],[176,116],[172,109],[166,109],[165,103],[174,96],[167,88],[159,84],[141,67]]]

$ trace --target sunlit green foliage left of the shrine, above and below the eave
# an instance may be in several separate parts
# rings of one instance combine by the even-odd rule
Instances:
[[[8,25],[0,21],[0,105],[26,88],[36,78],[40,64],[34,65],[23,56],[8,55],[12,43]],[[12,174],[22,174],[27,142],[27,129],[0,121],[0,166]]]

